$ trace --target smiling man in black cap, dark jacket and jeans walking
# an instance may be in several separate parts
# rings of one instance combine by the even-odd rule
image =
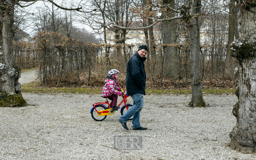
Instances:
[[[143,107],[143,94],[145,95],[146,72],[144,61],[147,59],[147,46],[139,46],[138,52],[129,59],[126,66],[126,91],[133,98],[133,106],[126,111],[118,121],[129,130],[126,122],[133,116],[133,130],[146,130],[139,123],[139,113]]]

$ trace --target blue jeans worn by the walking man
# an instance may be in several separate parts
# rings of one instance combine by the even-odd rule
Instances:
[[[133,129],[140,127],[139,123],[139,113],[143,107],[143,94],[137,93],[131,95],[131,98],[133,98],[133,106],[129,108],[128,111],[126,111],[120,119],[127,123],[128,119],[133,116]]]

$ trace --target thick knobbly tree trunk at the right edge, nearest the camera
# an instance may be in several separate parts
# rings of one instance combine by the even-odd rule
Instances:
[[[243,1],[241,12],[241,38],[230,46],[230,53],[239,62],[238,97],[233,115],[237,123],[230,132],[232,147],[242,153],[256,152],[256,5]]]

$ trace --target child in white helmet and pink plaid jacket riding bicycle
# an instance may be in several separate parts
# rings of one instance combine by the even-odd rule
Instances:
[[[109,104],[112,107],[112,110],[118,110],[120,108],[117,107],[117,97],[118,95],[122,95],[121,88],[117,87],[117,79],[118,74],[120,72],[116,69],[112,69],[107,72],[106,84],[102,89],[102,96],[110,99],[112,102]]]

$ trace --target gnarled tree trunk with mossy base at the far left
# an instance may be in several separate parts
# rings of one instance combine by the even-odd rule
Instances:
[[[2,5],[10,3],[4,1]],[[14,6],[6,8],[8,10],[0,9],[1,13],[6,14],[0,19],[0,107],[24,106],[27,103],[22,97],[21,84],[18,82],[21,70],[14,66],[11,51]]]

